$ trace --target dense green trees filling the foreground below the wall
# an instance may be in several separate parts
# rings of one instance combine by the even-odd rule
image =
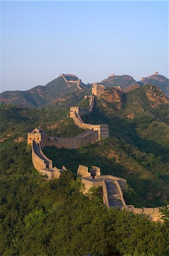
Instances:
[[[79,192],[70,171],[46,181],[32,167],[25,143],[1,150],[0,253],[2,255],[163,255],[167,225],[119,209]],[[21,171],[22,170],[22,171]]]

